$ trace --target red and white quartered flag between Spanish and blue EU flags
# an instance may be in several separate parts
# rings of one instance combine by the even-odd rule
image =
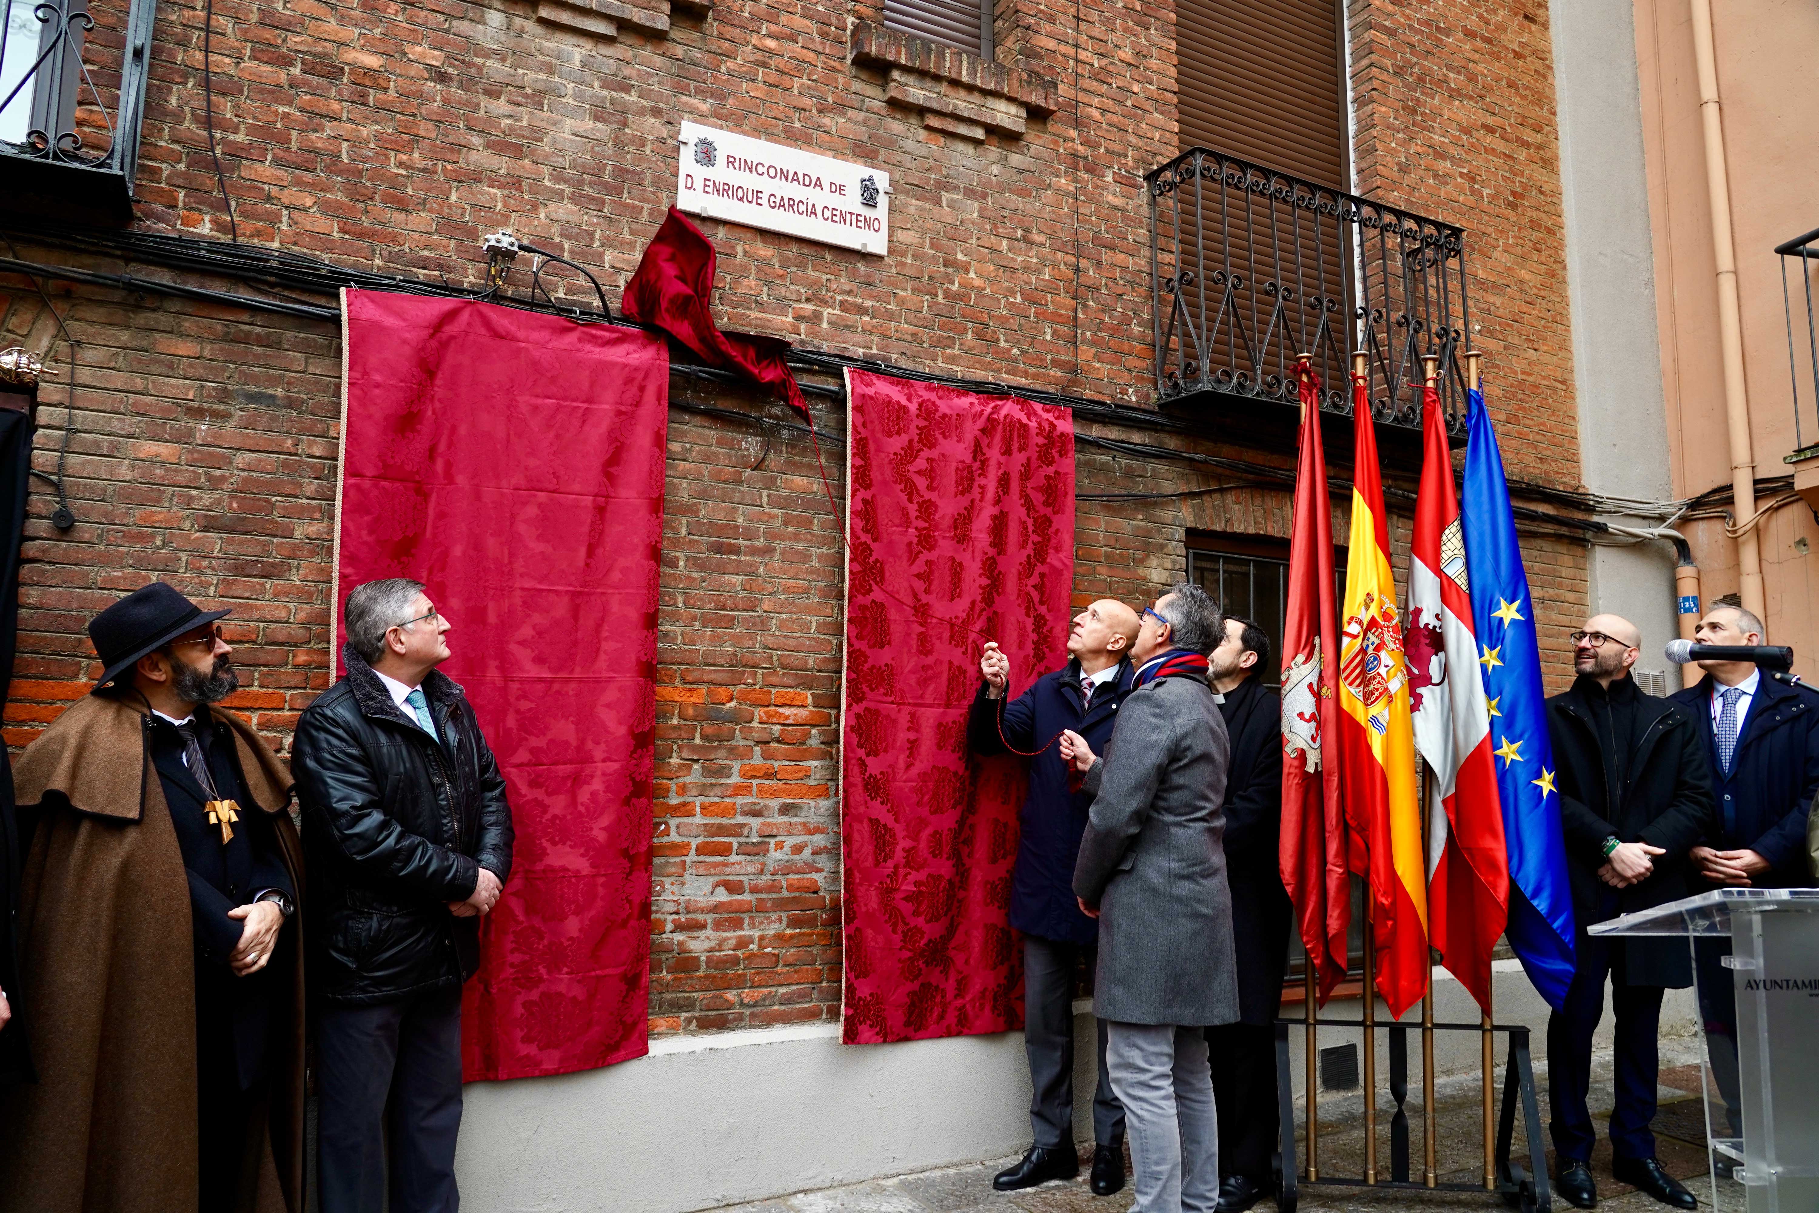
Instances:
[[[1408,560],[1408,698],[1428,760],[1428,937],[1490,1011],[1490,953],[1502,935],[1510,869],[1502,849],[1490,700],[1479,671],[1466,544],[1441,396],[1421,400],[1422,464]]]

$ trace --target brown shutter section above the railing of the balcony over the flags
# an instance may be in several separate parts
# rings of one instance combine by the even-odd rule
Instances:
[[[1350,189],[1337,0],[1175,0],[1181,149]]]

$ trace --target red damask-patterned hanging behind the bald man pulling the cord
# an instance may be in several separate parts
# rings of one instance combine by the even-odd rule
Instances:
[[[1022,1028],[1010,927],[1024,775],[971,758],[979,653],[1066,660],[1073,416],[846,373],[840,727],[846,1044]]]

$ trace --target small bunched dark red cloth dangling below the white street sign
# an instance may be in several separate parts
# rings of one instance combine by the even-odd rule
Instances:
[[[628,320],[653,324],[693,349],[708,366],[755,380],[777,398],[808,413],[795,375],[784,366],[789,342],[777,336],[722,333],[708,311],[713,298],[713,242],[669,207],[669,218],[638,260],[618,309]]]

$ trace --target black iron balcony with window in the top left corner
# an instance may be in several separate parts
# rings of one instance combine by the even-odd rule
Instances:
[[[0,0],[0,207],[124,226],[156,0]]]

